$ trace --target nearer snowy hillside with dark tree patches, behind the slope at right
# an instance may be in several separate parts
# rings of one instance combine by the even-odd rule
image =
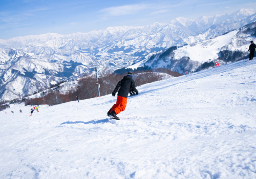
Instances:
[[[216,38],[148,55],[130,68],[148,65],[152,68],[168,68],[182,74],[212,68],[215,62],[225,64],[246,58],[249,55],[247,50],[250,41],[256,41],[255,36],[254,22]]]

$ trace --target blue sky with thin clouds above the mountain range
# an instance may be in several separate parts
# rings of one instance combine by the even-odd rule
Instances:
[[[44,33],[71,34],[112,26],[167,23],[177,17],[195,19],[241,8],[256,1],[205,0],[0,0],[0,39]]]

